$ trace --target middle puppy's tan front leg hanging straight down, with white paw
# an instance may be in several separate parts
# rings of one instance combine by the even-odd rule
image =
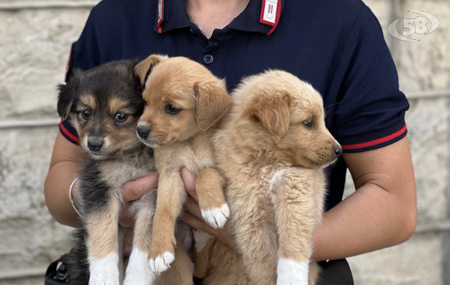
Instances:
[[[186,190],[179,170],[162,170],[159,172],[157,207],[153,219],[153,237],[150,249],[150,269],[155,274],[169,269],[174,261],[175,222],[179,216]]]

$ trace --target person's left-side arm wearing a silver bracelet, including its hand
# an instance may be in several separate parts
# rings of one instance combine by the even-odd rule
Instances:
[[[50,214],[61,224],[70,227],[80,227],[78,214],[70,204],[69,187],[80,170],[80,162],[83,159],[83,150],[78,145],[74,145],[58,133],[56,135],[53,155],[51,157],[50,169],[44,185],[46,204]],[[156,172],[150,173],[138,180],[130,181],[123,185],[122,211],[119,222],[122,227],[132,227],[134,222],[128,215],[128,202],[139,199],[147,192],[157,188],[158,175]],[[75,201],[78,198],[78,182],[73,188]]]

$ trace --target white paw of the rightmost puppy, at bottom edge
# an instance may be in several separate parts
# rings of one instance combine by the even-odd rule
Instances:
[[[309,263],[292,259],[278,259],[277,285],[308,285]]]

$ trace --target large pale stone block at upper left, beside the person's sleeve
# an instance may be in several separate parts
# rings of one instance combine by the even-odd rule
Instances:
[[[56,117],[56,86],[87,16],[87,9],[0,11],[0,120]]]

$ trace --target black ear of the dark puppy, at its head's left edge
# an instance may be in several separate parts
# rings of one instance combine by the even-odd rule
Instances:
[[[58,115],[62,120],[66,120],[70,113],[70,109],[72,109],[73,99],[75,98],[75,94],[78,90],[78,86],[80,86],[81,80],[81,71],[75,70],[73,71],[73,76],[66,82],[66,84],[58,85]]]

